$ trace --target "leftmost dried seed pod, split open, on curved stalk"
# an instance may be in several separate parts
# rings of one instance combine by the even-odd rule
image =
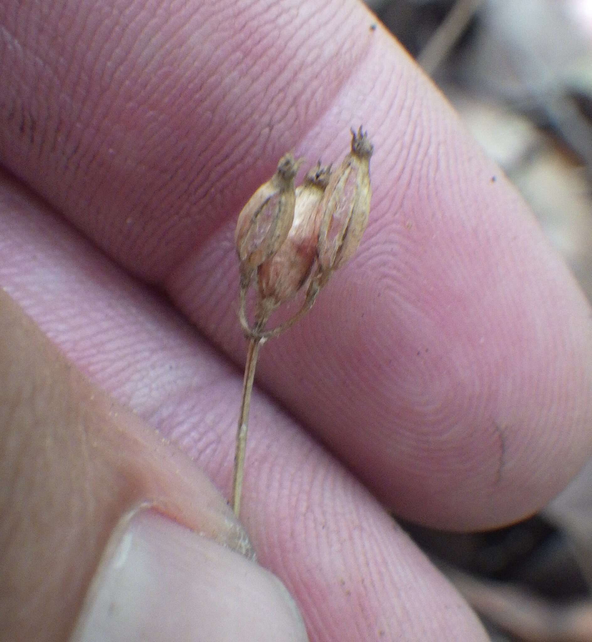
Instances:
[[[303,159],[284,155],[275,174],[250,197],[236,223],[234,241],[247,284],[256,268],[286,240],[294,218],[294,177]]]

